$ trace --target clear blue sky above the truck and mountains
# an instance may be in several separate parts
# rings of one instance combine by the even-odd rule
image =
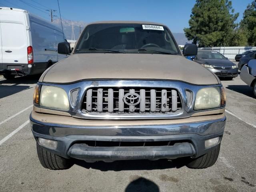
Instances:
[[[232,0],[240,22],[253,0]],[[196,0],[59,0],[62,18],[93,22],[100,20],[140,20],[166,24],[172,32],[188,27]],[[0,0],[0,6],[23,8],[50,20],[46,9],[58,10],[57,0]],[[55,12],[59,16],[59,12]]]

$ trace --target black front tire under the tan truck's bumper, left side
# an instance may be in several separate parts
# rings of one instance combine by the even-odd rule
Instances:
[[[63,170],[72,167],[74,164],[72,160],[53,154],[52,152],[41,147],[38,143],[36,143],[36,150],[39,161],[44,168]]]

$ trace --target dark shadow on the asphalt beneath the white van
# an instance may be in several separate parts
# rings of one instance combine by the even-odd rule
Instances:
[[[36,84],[40,78],[40,75],[33,76],[21,76],[12,80],[3,79],[0,80],[0,98],[16,94],[26,89],[30,89],[30,84]],[[10,85],[11,84],[11,85]],[[25,84],[25,85],[20,85]]]

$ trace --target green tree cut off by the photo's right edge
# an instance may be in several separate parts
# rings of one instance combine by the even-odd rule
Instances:
[[[240,28],[243,29],[248,38],[248,44],[256,46],[256,2],[249,4],[244,11],[244,17],[240,22]]]

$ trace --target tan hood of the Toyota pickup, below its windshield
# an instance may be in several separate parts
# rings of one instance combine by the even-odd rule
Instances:
[[[70,83],[84,79],[181,80],[218,84],[216,76],[183,56],[167,54],[72,54],[45,71],[40,82]]]

